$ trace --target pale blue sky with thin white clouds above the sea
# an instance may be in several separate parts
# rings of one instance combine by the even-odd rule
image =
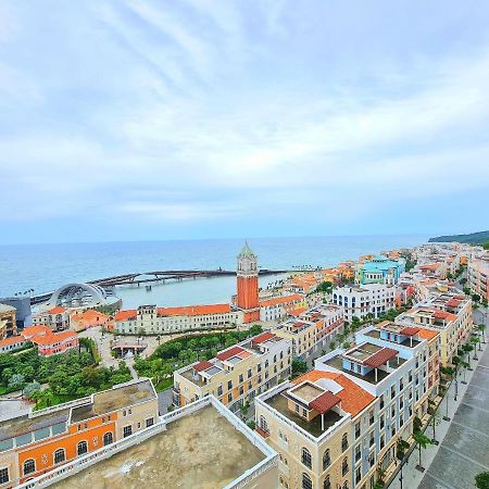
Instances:
[[[0,243],[489,229],[487,0],[0,0]]]

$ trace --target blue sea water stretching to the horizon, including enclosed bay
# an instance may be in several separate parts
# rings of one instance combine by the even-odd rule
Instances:
[[[425,235],[336,236],[254,238],[249,244],[259,266],[294,269],[301,266],[334,266],[361,254],[411,248],[427,242]],[[88,242],[0,246],[0,298],[15,293],[39,294],[79,281],[126,273],[164,269],[235,269],[243,239],[173,241]],[[266,287],[280,277],[260,277]],[[236,278],[214,277],[167,281],[146,287],[123,286],[116,294],[123,308],[141,304],[190,305],[228,302]]]

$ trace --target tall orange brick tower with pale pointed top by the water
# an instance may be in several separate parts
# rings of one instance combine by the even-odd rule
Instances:
[[[259,271],[256,255],[248,242],[238,254],[237,306],[243,313],[243,323],[260,321]]]

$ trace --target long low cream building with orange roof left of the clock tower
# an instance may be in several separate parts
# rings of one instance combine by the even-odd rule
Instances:
[[[120,311],[114,316],[114,330],[130,335],[151,335],[223,329],[242,324],[242,312],[229,304],[156,308],[140,305],[137,310]]]

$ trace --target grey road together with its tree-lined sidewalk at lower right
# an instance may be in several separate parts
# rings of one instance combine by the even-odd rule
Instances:
[[[423,474],[415,468],[417,449],[404,465],[403,489],[474,489],[474,477],[489,471],[489,348],[477,352],[478,363],[472,361],[474,372],[467,372],[468,386],[459,381],[459,397],[454,401],[454,384],[450,388],[450,422],[441,421],[436,427],[440,446],[430,446],[422,452]],[[477,367],[475,367],[477,365]],[[462,376],[459,376],[459,380]],[[443,399],[439,412],[446,414]],[[431,437],[428,427],[426,435]],[[400,489],[399,477],[389,489]]]

